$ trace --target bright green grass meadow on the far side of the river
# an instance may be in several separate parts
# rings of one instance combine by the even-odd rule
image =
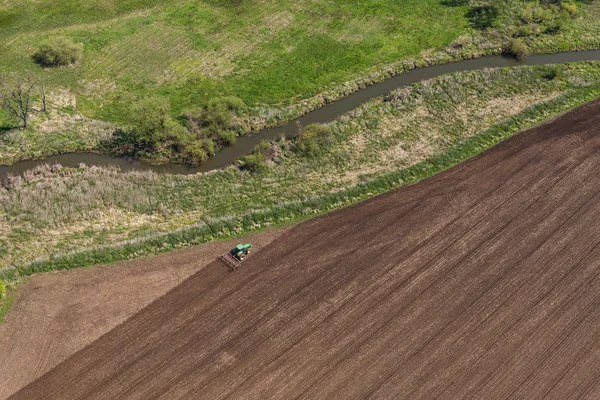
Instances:
[[[111,122],[151,95],[168,97],[174,115],[224,95],[289,104],[447,46],[466,31],[464,14],[439,0],[9,0],[0,69],[32,70],[76,94],[84,115]],[[79,65],[34,64],[53,35],[83,43]]]

